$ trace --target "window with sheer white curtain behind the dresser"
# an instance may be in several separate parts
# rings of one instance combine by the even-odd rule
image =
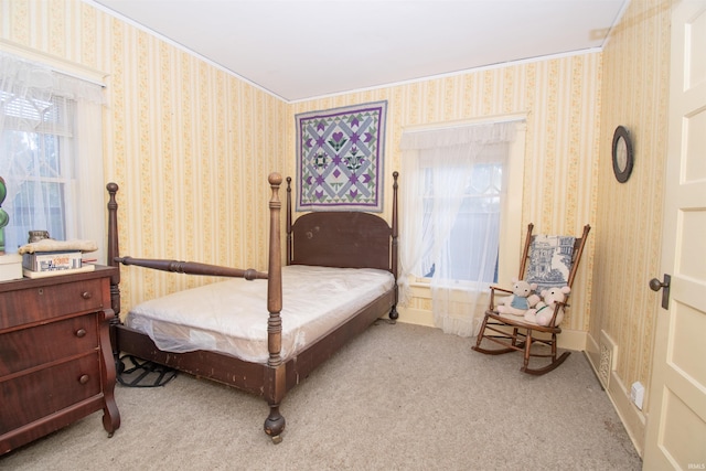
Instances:
[[[97,84],[0,53],[6,251],[17,251],[35,229],[105,245],[103,103]]]

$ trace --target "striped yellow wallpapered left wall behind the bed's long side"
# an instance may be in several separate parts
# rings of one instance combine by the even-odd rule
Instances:
[[[287,104],[78,0],[1,0],[0,38],[106,74],[106,182],[120,251],[267,268]],[[124,312],[207,279],[122,269]]]

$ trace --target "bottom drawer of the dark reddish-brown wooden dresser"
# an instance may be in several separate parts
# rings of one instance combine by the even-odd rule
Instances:
[[[0,435],[100,394],[98,352],[10,381],[0,379]]]

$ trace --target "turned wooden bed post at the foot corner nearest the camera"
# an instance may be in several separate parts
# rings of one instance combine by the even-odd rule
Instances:
[[[269,404],[269,416],[265,419],[265,432],[275,443],[279,443],[281,432],[285,430],[285,417],[279,413],[279,404],[287,389],[286,366],[280,356],[282,343],[282,251],[280,231],[279,185],[282,176],[279,173],[270,173],[269,184],[272,195],[269,201],[269,267],[267,277],[267,346],[269,358],[266,371],[266,397]]]

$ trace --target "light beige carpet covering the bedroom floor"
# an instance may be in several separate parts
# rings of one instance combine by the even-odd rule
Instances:
[[[544,376],[474,339],[379,322],[281,405],[284,441],[263,432],[265,400],[184,374],[116,386],[103,413],[0,457],[2,470],[639,470],[642,462],[586,357]]]

